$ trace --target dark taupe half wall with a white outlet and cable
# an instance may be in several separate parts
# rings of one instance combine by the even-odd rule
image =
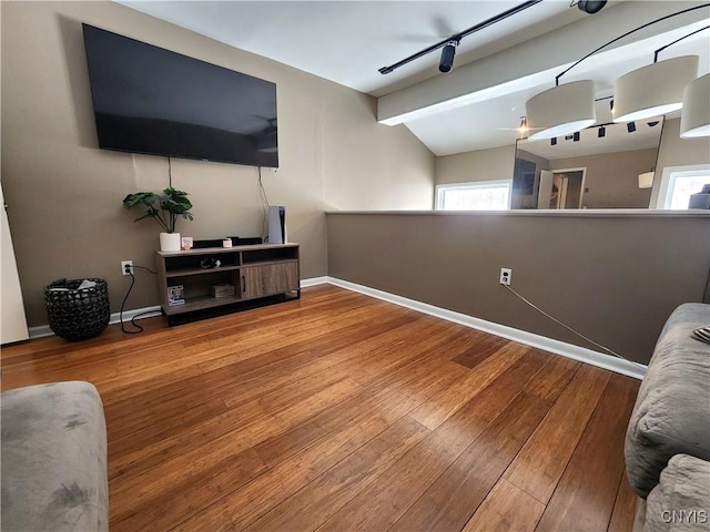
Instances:
[[[590,349],[498,284],[647,362],[672,309],[700,301],[710,216],[332,213],[328,275]]]

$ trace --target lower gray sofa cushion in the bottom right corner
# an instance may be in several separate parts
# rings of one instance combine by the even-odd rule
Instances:
[[[645,531],[710,531],[710,462],[676,454],[648,495]]]

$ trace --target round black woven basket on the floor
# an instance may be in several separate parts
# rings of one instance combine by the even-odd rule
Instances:
[[[83,280],[61,279],[44,287],[49,327],[57,336],[71,341],[100,335],[111,318],[106,282],[85,279],[97,286],[79,289]]]

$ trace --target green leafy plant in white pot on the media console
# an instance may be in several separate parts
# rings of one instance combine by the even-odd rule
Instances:
[[[175,223],[179,217],[194,219],[190,212],[192,203],[189,194],[169,186],[162,194],[154,192],[135,192],[123,198],[126,208],[142,206],[145,214],[135,218],[139,222],[144,218],[153,218],[163,232],[160,234],[160,248],[162,252],[180,250],[180,233],[175,233]]]

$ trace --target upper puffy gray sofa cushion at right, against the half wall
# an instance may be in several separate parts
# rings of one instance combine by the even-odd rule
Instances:
[[[710,460],[710,346],[691,337],[710,305],[678,307],[663,327],[626,434],[629,482],[646,498],[673,454]]]

